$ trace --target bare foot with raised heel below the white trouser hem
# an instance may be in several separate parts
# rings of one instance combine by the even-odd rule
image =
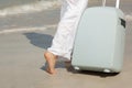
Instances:
[[[55,64],[56,64],[57,56],[50,52],[45,52],[44,57],[47,62],[47,68],[46,68],[47,73],[50,73],[51,75],[56,74]]]

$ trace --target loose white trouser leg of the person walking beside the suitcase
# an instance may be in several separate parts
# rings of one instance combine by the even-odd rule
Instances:
[[[70,59],[77,25],[87,3],[88,0],[63,0],[61,21],[48,52]]]

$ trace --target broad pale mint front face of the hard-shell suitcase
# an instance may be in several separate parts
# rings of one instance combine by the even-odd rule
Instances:
[[[87,9],[78,25],[72,64],[81,69],[113,69],[117,66],[114,64],[117,26],[116,10]],[[118,66],[120,68],[120,65]]]

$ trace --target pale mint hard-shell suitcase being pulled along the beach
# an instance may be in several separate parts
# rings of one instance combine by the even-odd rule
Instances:
[[[106,0],[105,0],[106,2]],[[124,14],[113,7],[88,8],[78,24],[72,65],[77,70],[120,73],[125,37]]]

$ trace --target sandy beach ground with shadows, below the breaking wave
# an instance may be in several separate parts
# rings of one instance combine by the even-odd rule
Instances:
[[[124,63],[120,74],[75,72],[57,62],[57,74],[45,72],[44,52],[51,45],[59,8],[0,18],[0,88],[132,88],[132,1],[123,0],[127,16]],[[51,25],[44,29],[44,25]],[[42,28],[43,30],[37,30]],[[33,29],[29,30],[26,29]],[[16,31],[19,29],[20,31]],[[23,29],[25,29],[23,31]],[[11,31],[13,30],[13,31]]]

